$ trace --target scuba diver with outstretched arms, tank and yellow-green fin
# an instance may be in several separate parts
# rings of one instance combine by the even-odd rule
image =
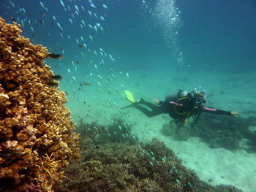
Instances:
[[[195,88],[192,92],[178,90],[178,93],[167,95],[165,101],[159,101],[154,99],[152,103],[140,99],[135,101],[130,91],[124,91],[127,99],[132,102],[127,107],[135,107],[143,112],[148,118],[154,117],[160,114],[169,114],[170,118],[173,118],[173,122],[176,123],[176,133],[180,131],[181,126],[187,123],[188,118],[193,117],[192,128],[197,123],[201,112],[209,112],[218,115],[233,115],[238,117],[238,112],[229,112],[223,110],[217,110],[214,108],[206,107],[206,92],[200,87]],[[147,110],[142,105],[149,107],[151,110]],[[124,107],[123,109],[127,108]]]

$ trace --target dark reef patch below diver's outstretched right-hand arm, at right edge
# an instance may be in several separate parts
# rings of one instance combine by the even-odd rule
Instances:
[[[208,142],[210,147],[225,147],[227,150],[241,148],[242,139],[247,139],[244,150],[255,152],[256,133],[249,130],[253,126],[252,117],[237,118],[225,115],[203,114],[195,130],[190,131],[191,136],[197,136]]]

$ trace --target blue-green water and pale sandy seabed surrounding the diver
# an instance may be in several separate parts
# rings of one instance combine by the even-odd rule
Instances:
[[[124,90],[151,101],[202,86],[208,106],[253,121],[255,1],[1,0],[0,15],[20,23],[32,43],[63,55],[46,64],[61,75],[59,86],[76,123],[106,125],[113,117],[123,118],[142,141],[156,137],[165,142],[201,180],[256,191],[256,137],[231,142],[238,145],[235,150],[209,147],[202,134],[186,139],[163,134],[167,115],[147,118],[133,108],[121,110],[129,104]],[[223,129],[239,124],[225,116],[221,120]],[[248,123],[252,135],[254,123]],[[207,129],[206,123],[200,128]]]

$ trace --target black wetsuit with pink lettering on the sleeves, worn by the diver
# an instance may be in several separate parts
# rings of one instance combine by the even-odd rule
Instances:
[[[140,106],[140,104],[146,105],[151,109],[147,110],[146,108]],[[200,108],[194,107],[192,99],[187,97],[182,101],[159,101],[159,105],[151,104],[144,99],[140,99],[139,102],[135,103],[134,106],[143,112],[148,118],[154,117],[160,114],[169,114],[174,120],[186,120],[192,115],[197,115],[199,112],[210,112],[219,115],[231,115],[229,111],[217,110],[209,107],[202,106]]]

